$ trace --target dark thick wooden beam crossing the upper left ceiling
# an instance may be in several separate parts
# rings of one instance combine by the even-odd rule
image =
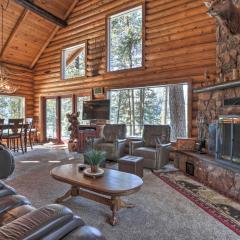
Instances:
[[[19,5],[23,6],[24,8],[40,15],[41,17],[45,18],[46,20],[60,26],[66,27],[68,24],[66,21],[62,20],[61,18],[53,15],[52,13],[48,12],[47,10],[37,6],[30,0],[15,0]]]

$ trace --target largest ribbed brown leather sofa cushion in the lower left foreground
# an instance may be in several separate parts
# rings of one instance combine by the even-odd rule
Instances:
[[[70,209],[58,204],[48,205],[2,226],[0,228],[0,239],[60,239],[60,237],[51,236],[51,238],[48,238],[46,236],[51,235],[60,228],[64,228],[73,219],[73,213]],[[77,221],[77,226],[84,225],[80,218]],[[76,228],[76,224],[74,228]],[[68,229],[68,232],[74,230],[74,228]],[[58,236],[60,235],[58,234]]]

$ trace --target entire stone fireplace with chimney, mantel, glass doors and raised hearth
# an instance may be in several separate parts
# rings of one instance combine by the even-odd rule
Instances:
[[[240,0],[234,3],[240,7]],[[177,150],[175,164],[240,201],[240,37],[229,34],[218,21],[216,29],[216,78],[206,77],[205,85],[194,89],[198,97],[195,115],[204,119],[201,132],[206,135],[208,152]],[[199,127],[199,122],[193,121],[193,127]]]

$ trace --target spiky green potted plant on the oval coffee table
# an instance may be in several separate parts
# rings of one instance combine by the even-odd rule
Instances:
[[[85,153],[85,159],[91,167],[91,172],[97,173],[100,164],[106,160],[106,152],[93,149]]]

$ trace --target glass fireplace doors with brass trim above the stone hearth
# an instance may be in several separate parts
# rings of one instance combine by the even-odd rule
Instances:
[[[240,164],[240,116],[219,118],[217,158]]]

